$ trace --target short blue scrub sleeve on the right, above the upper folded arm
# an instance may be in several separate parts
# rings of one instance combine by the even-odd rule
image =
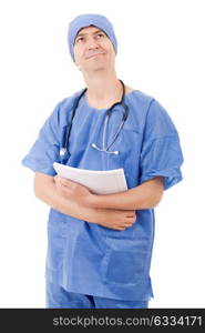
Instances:
[[[177,130],[167,111],[156,101],[150,104],[140,158],[140,183],[164,176],[164,190],[183,176],[183,152]]]

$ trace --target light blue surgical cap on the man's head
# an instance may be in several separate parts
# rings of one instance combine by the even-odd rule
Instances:
[[[100,28],[107,34],[111,42],[113,43],[115,53],[117,53],[116,37],[114,33],[113,26],[109,21],[109,19],[101,14],[86,13],[74,18],[74,20],[72,20],[69,24],[68,43],[69,43],[69,50],[73,61],[74,61],[73,47],[74,47],[75,37],[82,28],[86,28],[91,26]]]

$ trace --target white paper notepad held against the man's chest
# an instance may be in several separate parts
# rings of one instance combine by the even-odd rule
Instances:
[[[54,162],[53,168],[63,178],[89,188],[96,194],[112,194],[127,190],[123,169],[86,170]]]

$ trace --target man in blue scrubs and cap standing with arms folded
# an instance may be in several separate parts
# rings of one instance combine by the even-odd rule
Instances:
[[[73,118],[64,163],[89,170],[123,168],[129,190],[96,195],[57,175],[52,164],[61,162],[69,117],[82,90],[57,103],[22,161],[35,173],[37,198],[50,206],[47,307],[147,307],[154,296],[154,208],[163,191],[182,180],[178,133],[158,101],[117,79],[117,41],[105,17],[76,17],[68,43],[86,91]],[[123,87],[129,115],[105,150],[123,115],[116,104],[104,137],[106,110],[122,100]]]

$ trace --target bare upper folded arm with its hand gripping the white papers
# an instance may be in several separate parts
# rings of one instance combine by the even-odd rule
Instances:
[[[143,182],[141,185],[114,194],[95,194],[88,188],[71,180],[55,176],[57,183],[63,189],[62,194],[93,209],[144,210],[155,208],[164,191],[163,176],[156,176]]]

